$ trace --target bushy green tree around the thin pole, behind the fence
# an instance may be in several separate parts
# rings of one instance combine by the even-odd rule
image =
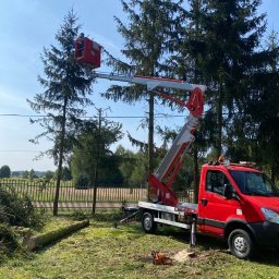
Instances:
[[[97,183],[122,183],[123,178],[118,169],[118,156],[110,147],[122,137],[121,124],[105,118],[85,123],[78,134],[71,157],[71,169],[76,186],[94,186],[96,169]]]

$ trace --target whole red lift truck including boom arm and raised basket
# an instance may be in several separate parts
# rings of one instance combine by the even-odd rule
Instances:
[[[96,69],[100,66],[101,47],[97,44],[99,51],[96,52],[92,51],[93,45],[96,44],[85,38],[81,52],[76,44],[75,59]],[[138,202],[142,226],[146,232],[154,232],[157,223],[190,229],[191,245],[195,244],[196,231],[211,234],[227,240],[231,253],[239,258],[253,256],[258,246],[279,247],[279,190],[253,163],[230,163],[222,159],[204,165],[198,204],[180,203],[171,190],[184,154],[195,138],[193,133],[203,116],[206,86],[180,80],[94,73],[97,78],[143,84],[148,90],[156,88],[156,94],[190,111],[170,150],[148,178],[154,199]],[[185,102],[169,94],[158,93],[158,87],[182,89],[191,95]]]

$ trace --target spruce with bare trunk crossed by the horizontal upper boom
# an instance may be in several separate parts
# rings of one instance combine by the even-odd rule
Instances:
[[[121,0],[123,10],[128,14],[125,25],[116,17],[118,31],[125,40],[122,53],[126,63],[116,59],[109,60],[116,71],[137,75],[156,76],[165,68],[166,57],[171,49],[172,35],[175,32],[179,17],[179,2],[171,0]],[[154,163],[154,108],[155,94],[146,92],[144,86],[111,86],[107,98],[136,102],[148,100],[148,173],[155,168]]]

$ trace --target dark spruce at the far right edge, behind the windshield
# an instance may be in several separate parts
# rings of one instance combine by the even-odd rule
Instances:
[[[253,155],[270,171],[275,182],[279,178],[279,40],[271,31],[265,46],[267,59],[251,74],[251,94],[245,113],[250,117]]]

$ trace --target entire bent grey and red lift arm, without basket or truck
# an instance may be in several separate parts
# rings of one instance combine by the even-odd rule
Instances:
[[[180,134],[175,138],[169,153],[162,160],[158,170],[150,174],[148,182],[151,193],[156,195],[156,199],[166,205],[174,206],[178,204],[178,198],[171,185],[174,178],[182,166],[184,151],[189,149],[191,143],[195,140],[193,133],[198,125],[198,118],[204,112],[204,95],[203,92],[206,89],[204,85],[190,84],[179,80],[169,80],[161,77],[150,76],[138,76],[138,75],[123,75],[114,73],[100,73],[94,72],[94,75],[98,78],[106,78],[110,81],[120,81],[128,83],[143,84],[147,86],[148,90],[153,90],[156,87],[183,89],[191,92],[191,96],[187,102],[184,102],[175,97],[158,93],[163,98],[170,99],[179,105],[186,107],[190,110],[190,116],[185,125],[182,128]]]

